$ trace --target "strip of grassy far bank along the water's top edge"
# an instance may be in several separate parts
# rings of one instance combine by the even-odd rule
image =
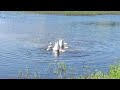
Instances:
[[[22,11],[25,13],[55,14],[55,15],[120,15],[120,11]]]

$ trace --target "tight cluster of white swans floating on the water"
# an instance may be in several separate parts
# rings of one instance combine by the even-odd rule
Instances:
[[[55,42],[54,46],[50,42],[47,51],[53,50],[54,53],[65,52],[65,49],[68,48],[66,45],[67,43],[65,43],[63,39],[59,39],[57,42]]]

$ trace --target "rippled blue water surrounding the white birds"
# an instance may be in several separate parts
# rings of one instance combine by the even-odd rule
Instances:
[[[55,58],[48,43],[63,38],[69,49]],[[58,62],[76,68],[76,74],[95,69],[106,72],[120,58],[120,16],[57,16],[0,12],[0,78],[38,71],[41,78],[56,78],[50,71]],[[57,61],[56,61],[57,60]],[[89,66],[86,69],[83,67]],[[68,70],[67,74],[70,74]]]

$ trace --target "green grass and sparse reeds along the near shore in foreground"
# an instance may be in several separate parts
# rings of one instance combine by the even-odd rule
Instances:
[[[70,68],[68,68],[64,62],[58,63],[56,68],[52,68],[52,66],[50,66],[49,70],[50,72],[51,70],[53,70],[52,72],[57,76],[56,79],[120,79],[120,64],[117,66],[111,65],[107,73],[101,71],[94,71],[85,76],[77,77],[73,75],[73,73],[75,72],[72,72],[70,76],[67,76],[67,72],[68,70],[70,70]],[[75,70],[75,68],[72,68],[71,70],[73,71]],[[26,73],[24,74],[22,72],[19,72],[20,79],[41,78],[41,75],[38,71],[35,71],[33,76],[31,76],[32,75],[30,75],[29,69],[26,69]]]

